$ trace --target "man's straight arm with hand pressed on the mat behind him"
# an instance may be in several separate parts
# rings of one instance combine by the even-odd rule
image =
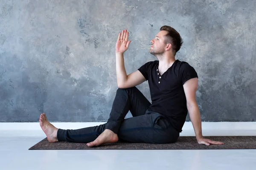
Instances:
[[[224,144],[222,142],[212,141],[210,139],[205,139],[202,135],[201,127],[201,115],[196,102],[196,91],[198,90],[198,78],[192,78],[186,81],[183,85],[184,92],[186,95],[186,105],[189,111],[189,117],[192,122],[195,137],[198,144]]]

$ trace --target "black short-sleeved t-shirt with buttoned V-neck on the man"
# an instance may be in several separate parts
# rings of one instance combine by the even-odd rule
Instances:
[[[145,63],[138,70],[143,74],[150,88],[152,104],[148,111],[166,116],[173,127],[181,132],[188,113],[184,83],[198,77],[195,69],[178,59],[163,75],[158,72],[159,61]]]

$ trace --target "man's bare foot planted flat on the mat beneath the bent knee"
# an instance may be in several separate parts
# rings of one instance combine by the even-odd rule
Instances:
[[[118,137],[116,133],[113,133],[113,131],[109,129],[105,129],[102,134],[100,134],[95,141],[87,143],[86,145],[89,147],[93,146],[99,146],[101,144],[106,144],[106,143],[115,143],[118,141]]]

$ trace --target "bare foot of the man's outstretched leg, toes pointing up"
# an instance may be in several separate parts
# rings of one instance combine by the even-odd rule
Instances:
[[[58,142],[57,131],[58,129],[49,123],[45,113],[42,113],[39,119],[40,126],[47,136],[49,142]]]

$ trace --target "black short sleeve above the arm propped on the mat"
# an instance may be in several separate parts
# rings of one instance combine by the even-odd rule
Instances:
[[[179,71],[179,78],[182,85],[184,85],[184,83],[189,79],[196,78],[196,77],[198,78],[198,74],[195,71],[195,69],[191,65],[189,65],[187,62],[182,62],[180,65],[180,71]]]

